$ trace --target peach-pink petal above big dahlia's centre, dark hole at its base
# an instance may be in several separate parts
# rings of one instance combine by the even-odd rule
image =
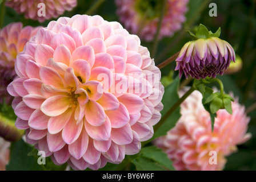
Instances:
[[[90,77],[90,64],[86,60],[78,59],[72,64],[75,76],[80,77],[80,82],[86,82]]]

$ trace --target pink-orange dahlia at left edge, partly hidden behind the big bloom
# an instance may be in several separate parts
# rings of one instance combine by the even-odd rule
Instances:
[[[10,23],[0,30],[0,102],[3,98],[9,104],[11,96],[6,87],[16,76],[14,63],[19,52],[23,51],[25,44],[34,36],[39,27],[23,27],[21,22]]]

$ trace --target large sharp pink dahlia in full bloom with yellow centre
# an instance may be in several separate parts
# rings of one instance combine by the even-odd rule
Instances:
[[[52,21],[17,56],[15,125],[56,164],[98,169],[139,152],[162,110],[161,72],[138,36],[101,16]]]

